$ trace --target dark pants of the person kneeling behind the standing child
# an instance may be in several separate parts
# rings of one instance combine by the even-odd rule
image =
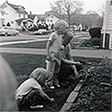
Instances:
[[[80,71],[82,69],[81,65],[76,64],[75,66],[76,66],[77,71]],[[66,78],[68,78],[69,76],[71,76],[73,74],[74,74],[74,71],[71,68],[71,66],[68,64],[62,63],[61,69],[58,73],[58,79],[59,79],[59,81],[64,81],[64,80],[66,80]]]

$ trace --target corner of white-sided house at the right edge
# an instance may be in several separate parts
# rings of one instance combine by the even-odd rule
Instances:
[[[108,39],[109,42],[107,42],[109,44],[108,47],[109,49],[112,49],[112,0],[106,0],[102,33],[104,34],[102,47],[105,48],[105,43],[107,40],[105,34],[108,34],[109,35],[109,39]]]

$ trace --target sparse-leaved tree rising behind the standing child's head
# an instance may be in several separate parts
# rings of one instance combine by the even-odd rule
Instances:
[[[71,16],[74,13],[81,13],[83,8],[83,2],[78,0],[57,0],[51,4],[51,9],[61,15],[62,17],[67,18],[68,24],[70,26]]]

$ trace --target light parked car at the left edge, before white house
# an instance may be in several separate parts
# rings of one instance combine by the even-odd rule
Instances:
[[[14,28],[10,28],[10,27],[2,27],[0,29],[0,35],[5,35],[5,36],[8,36],[8,35],[18,35],[19,34],[19,31],[14,29]]]

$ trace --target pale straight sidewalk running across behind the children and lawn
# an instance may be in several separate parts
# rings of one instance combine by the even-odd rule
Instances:
[[[32,48],[3,48],[0,47],[0,53],[19,53],[19,54],[36,54],[46,55],[46,49],[32,49]],[[85,58],[104,58],[112,59],[112,50],[82,50],[73,49],[72,56]]]

